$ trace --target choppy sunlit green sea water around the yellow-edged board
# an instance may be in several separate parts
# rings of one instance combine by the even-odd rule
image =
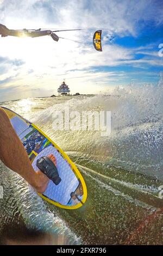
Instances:
[[[22,99],[1,105],[35,123],[66,151],[88,190],[82,208],[59,209],[44,202],[20,176],[0,163],[1,229],[11,222],[23,223],[57,235],[62,244],[162,244],[161,80],[156,86],[116,87],[100,95]],[[54,130],[54,112],[67,108],[79,113],[111,111],[110,136],[103,137],[93,129]]]

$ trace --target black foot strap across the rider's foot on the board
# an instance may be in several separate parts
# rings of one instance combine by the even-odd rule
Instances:
[[[36,166],[41,170],[42,173],[52,180],[55,185],[58,185],[61,182],[57,167],[47,156],[42,156],[40,159],[38,159]]]

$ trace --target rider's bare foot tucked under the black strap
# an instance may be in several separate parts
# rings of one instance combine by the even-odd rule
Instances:
[[[51,154],[51,155],[48,155],[47,157],[48,157],[49,159],[51,159],[52,162],[53,162],[53,163],[55,164],[55,166],[56,166],[56,159],[55,159],[55,156],[53,156],[53,155]],[[38,178],[37,178],[38,185],[37,185],[37,187],[36,187],[36,191],[39,192],[39,193],[43,193],[43,192],[45,192],[46,187],[47,187],[48,182],[49,182],[50,179],[49,179],[45,174],[43,174],[43,173],[41,172],[41,170],[37,170],[36,174],[37,174],[37,176],[38,176]]]

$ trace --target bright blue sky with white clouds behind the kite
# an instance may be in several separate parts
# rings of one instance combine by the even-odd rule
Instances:
[[[0,0],[0,23],[10,29],[79,29],[67,38],[0,38],[0,101],[153,83],[163,71],[163,0]],[[102,52],[92,44],[102,29]]]

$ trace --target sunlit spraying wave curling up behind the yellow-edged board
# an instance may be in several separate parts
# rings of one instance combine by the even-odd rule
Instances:
[[[41,127],[67,151],[86,152],[116,166],[163,179],[163,86],[116,87],[112,94],[78,96],[30,114]],[[111,111],[111,135],[100,131],[54,131],[55,111]],[[81,121],[81,115],[79,122]]]

